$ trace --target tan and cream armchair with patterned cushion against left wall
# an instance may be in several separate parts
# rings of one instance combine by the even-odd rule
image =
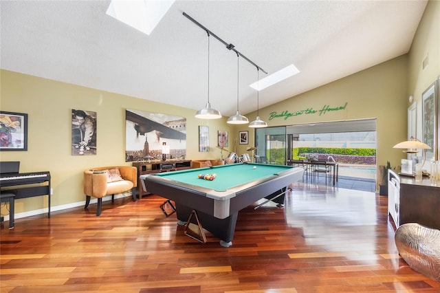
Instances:
[[[84,171],[85,207],[90,203],[91,197],[98,199],[96,216],[101,214],[102,197],[111,195],[113,201],[116,193],[131,189],[133,201],[136,197],[137,168],[134,166],[109,166],[87,169]]]

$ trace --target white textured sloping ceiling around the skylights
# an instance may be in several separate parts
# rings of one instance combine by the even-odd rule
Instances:
[[[197,110],[208,99],[208,37],[186,12],[269,74],[300,69],[260,92],[265,107],[406,54],[426,3],[176,1],[147,36],[107,16],[109,1],[1,0],[0,66]],[[212,37],[210,48],[210,102],[232,116],[238,58]],[[256,110],[256,79],[240,58],[242,114]]]

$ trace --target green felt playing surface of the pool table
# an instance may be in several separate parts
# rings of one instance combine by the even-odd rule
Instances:
[[[254,169],[254,167],[256,168]],[[157,176],[193,186],[209,188],[214,191],[225,191],[254,180],[263,179],[290,168],[292,167],[269,164],[229,164],[207,168],[189,169],[184,171],[159,173]],[[199,174],[216,174],[217,177],[210,181],[200,179],[198,177]]]

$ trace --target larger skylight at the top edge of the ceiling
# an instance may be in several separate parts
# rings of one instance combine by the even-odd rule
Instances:
[[[111,0],[106,13],[149,35],[173,3],[166,0]]]

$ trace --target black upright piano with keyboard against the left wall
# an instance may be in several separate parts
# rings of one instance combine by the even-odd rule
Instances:
[[[20,162],[0,162],[1,193],[12,192],[15,199],[47,195],[50,218],[50,172],[19,173],[19,169]]]

